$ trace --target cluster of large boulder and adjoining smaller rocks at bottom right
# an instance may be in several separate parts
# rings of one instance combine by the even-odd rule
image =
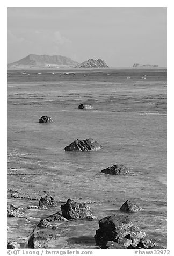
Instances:
[[[136,226],[129,216],[111,215],[98,222],[95,241],[100,248],[110,249],[135,249],[153,248],[154,240],[146,238],[146,233]]]

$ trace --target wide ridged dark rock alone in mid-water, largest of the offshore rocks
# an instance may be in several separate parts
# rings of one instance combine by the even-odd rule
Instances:
[[[64,148],[65,151],[91,151],[101,150],[103,147],[97,143],[94,139],[75,140]]]

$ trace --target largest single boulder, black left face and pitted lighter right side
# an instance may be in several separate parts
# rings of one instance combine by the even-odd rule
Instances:
[[[105,248],[108,241],[114,241],[122,246],[136,248],[140,240],[146,236],[139,227],[135,226],[129,216],[111,215],[101,219],[96,230],[96,245]],[[124,238],[130,240],[127,241]]]

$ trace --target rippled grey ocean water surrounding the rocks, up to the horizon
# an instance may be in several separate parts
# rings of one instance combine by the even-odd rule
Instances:
[[[68,73],[68,74],[66,74]],[[81,103],[93,109],[80,110]],[[53,123],[40,124],[41,116]],[[65,152],[75,139],[93,138],[103,150]],[[102,174],[122,163],[130,174]],[[49,248],[96,248],[98,220],[121,214],[128,199],[143,211],[132,221],[166,247],[166,70],[8,70],[8,189],[52,195],[60,203],[31,210],[38,200],[12,198],[31,217],[8,218],[8,240],[27,247],[41,218],[73,198],[89,202],[95,221],[70,221]],[[25,180],[20,179],[25,177]]]

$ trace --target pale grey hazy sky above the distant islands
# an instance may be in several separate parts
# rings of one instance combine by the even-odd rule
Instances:
[[[166,66],[166,8],[8,8],[8,63],[28,54]]]

